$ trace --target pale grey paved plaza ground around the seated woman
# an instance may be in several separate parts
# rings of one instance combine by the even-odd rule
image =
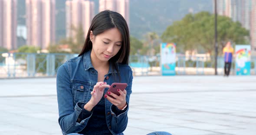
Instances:
[[[134,77],[125,135],[256,135],[256,76]],[[0,135],[62,135],[56,78],[0,79]]]

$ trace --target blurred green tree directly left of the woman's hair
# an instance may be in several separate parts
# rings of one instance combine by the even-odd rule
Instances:
[[[72,53],[80,53],[85,42],[84,31],[82,25],[79,25],[78,28],[75,26],[71,27],[71,30],[75,33],[74,37],[69,37],[67,39],[62,39],[61,44],[68,44],[72,50]]]

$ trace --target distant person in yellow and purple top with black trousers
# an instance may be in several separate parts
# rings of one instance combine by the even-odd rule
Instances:
[[[230,75],[230,68],[232,63],[232,58],[234,54],[234,49],[231,46],[231,42],[227,42],[226,46],[223,48],[223,54],[224,54],[224,76]]]

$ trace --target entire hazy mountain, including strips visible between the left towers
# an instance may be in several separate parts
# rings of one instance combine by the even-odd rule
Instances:
[[[98,13],[98,0],[95,14]],[[66,0],[56,0],[56,42],[66,37]],[[130,33],[138,39],[148,32],[161,35],[167,26],[187,13],[212,12],[212,0],[130,0]],[[18,0],[18,24],[26,25],[25,0]]]

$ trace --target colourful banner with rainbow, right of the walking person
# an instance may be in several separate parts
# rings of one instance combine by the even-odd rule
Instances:
[[[251,45],[236,45],[236,75],[250,75]]]

